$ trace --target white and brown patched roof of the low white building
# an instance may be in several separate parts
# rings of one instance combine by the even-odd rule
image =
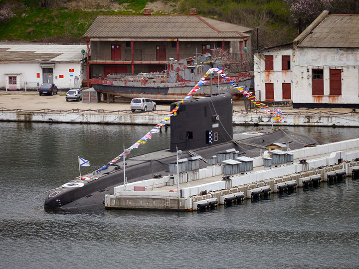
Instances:
[[[83,58],[82,49],[86,45],[0,43],[0,61],[78,62]]]

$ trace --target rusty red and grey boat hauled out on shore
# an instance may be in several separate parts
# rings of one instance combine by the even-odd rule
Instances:
[[[197,60],[199,64],[197,64]],[[93,78],[92,87],[100,93],[120,96],[124,100],[133,98],[150,98],[157,102],[175,102],[181,100],[203,77],[211,67],[220,67],[221,61],[212,61],[210,54],[179,61],[171,59],[162,73],[140,73],[138,75],[110,74],[106,77]],[[228,73],[247,89],[253,88],[253,71]],[[209,76],[206,84],[197,91],[197,96],[229,92],[233,99],[242,94],[220,76]]]

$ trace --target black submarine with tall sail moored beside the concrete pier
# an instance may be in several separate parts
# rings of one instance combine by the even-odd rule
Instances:
[[[171,111],[176,107],[171,104]],[[127,183],[169,174],[169,163],[177,158],[201,156],[199,168],[216,152],[234,148],[239,156],[260,156],[269,144],[279,142],[291,149],[318,144],[313,138],[279,129],[233,134],[233,101],[230,93],[183,100],[177,115],[171,117],[170,148],[126,157]],[[109,162],[106,169],[76,177],[47,192],[45,211],[90,209],[104,206],[106,194],[124,183],[123,161]]]

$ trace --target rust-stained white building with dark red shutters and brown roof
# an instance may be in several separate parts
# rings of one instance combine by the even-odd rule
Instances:
[[[263,101],[359,108],[359,15],[323,11],[293,42],[255,53],[254,76]]]

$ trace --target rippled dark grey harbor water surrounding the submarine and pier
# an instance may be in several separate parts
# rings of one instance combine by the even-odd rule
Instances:
[[[359,268],[359,179],[200,212],[47,213],[45,194],[106,164],[151,127],[0,123],[0,269]],[[246,132],[254,127],[234,127]],[[359,128],[285,127],[321,143]],[[169,147],[170,132],[131,152]]]

